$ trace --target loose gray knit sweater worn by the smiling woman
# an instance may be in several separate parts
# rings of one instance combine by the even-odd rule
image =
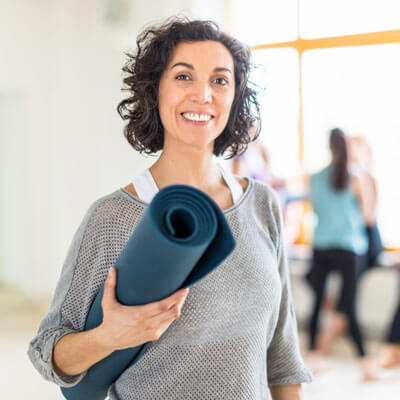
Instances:
[[[125,189],[95,201],[69,248],[50,310],[29,344],[47,380],[57,376],[54,345],[83,330],[89,307],[147,204]],[[281,215],[275,195],[249,179],[224,211],[237,246],[191,287],[181,316],[109,388],[112,400],[269,399],[268,385],[310,382],[298,347]]]

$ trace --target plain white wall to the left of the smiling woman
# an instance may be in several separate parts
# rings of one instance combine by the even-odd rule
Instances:
[[[122,6],[113,23],[107,18],[110,5]],[[123,52],[134,49],[139,30],[177,13],[223,26],[226,5],[223,0],[1,1],[0,190],[8,195],[0,202],[0,282],[33,299],[50,294],[90,204],[154,161],[130,148],[116,112]],[[18,124],[6,108],[13,101]],[[18,136],[20,146],[10,135]]]

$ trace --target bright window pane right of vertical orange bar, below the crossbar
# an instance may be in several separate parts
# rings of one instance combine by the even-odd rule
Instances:
[[[378,183],[384,244],[399,247],[400,44],[307,51],[303,56],[305,162],[328,159],[328,131],[364,136]]]

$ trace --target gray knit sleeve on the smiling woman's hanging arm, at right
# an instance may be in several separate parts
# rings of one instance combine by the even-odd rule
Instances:
[[[293,308],[289,268],[283,237],[282,214],[274,198],[275,219],[278,221],[278,268],[281,282],[281,301],[278,321],[267,350],[268,384],[270,386],[310,383],[310,371],[302,360],[297,334],[297,323]]]

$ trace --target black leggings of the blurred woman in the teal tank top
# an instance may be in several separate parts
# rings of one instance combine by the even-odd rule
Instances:
[[[363,256],[358,256],[347,250],[314,250],[312,266],[307,275],[307,279],[315,293],[314,307],[310,320],[310,349],[315,349],[318,320],[324,300],[327,277],[330,272],[337,271],[342,278],[338,308],[347,316],[350,334],[359,355],[365,355],[363,339],[355,310],[357,271],[364,260]]]

